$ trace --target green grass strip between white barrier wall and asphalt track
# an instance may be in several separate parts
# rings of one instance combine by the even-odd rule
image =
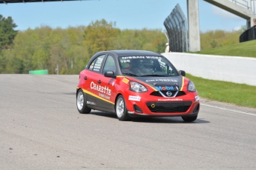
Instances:
[[[200,97],[256,108],[256,86],[212,81],[189,74],[186,74],[186,77],[194,82]]]

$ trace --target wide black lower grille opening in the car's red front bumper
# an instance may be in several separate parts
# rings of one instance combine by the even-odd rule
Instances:
[[[151,112],[187,112],[191,103],[191,101],[147,102],[146,105]]]

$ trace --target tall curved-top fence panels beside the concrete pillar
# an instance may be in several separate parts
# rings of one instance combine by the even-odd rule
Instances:
[[[169,49],[172,52],[188,51],[188,26],[186,16],[181,10],[180,4],[174,7],[171,14],[164,21],[168,33]]]

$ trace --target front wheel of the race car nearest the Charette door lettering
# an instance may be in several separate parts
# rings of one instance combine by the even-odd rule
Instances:
[[[130,119],[128,110],[126,109],[125,99],[122,97],[122,95],[119,95],[116,100],[116,117],[121,121]]]

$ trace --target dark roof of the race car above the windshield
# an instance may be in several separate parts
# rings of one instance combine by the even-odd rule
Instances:
[[[118,56],[129,56],[129,55],[154,55],[154,56],[162,56],[157,52],[145,51],[145,50],[111,50],[105,51],[110,53],[116,53]]]

